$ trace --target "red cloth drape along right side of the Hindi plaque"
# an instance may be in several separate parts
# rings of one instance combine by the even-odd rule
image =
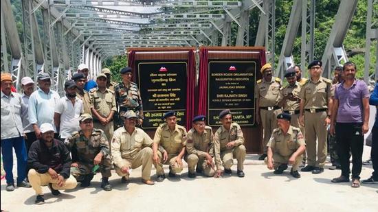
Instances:
[[[196,85],[196,60],[193,50],[188,52],[188,82],[186,83],[186,130],[190,130],[194,117],[194,89]]]

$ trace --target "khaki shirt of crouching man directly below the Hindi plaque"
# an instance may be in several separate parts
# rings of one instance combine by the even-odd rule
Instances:
[[[166,123],[160,125],[155,132],[153,141],[161,145],[168,154],[178,155],[186,146],[186,129],[176,124],[175,130],[170,130]]]

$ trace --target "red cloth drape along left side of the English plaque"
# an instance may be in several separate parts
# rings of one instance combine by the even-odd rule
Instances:
[[[208,49],[199,51],[199,78],[198,78],[198,111],[197,115],[207,115],[208,99]]]

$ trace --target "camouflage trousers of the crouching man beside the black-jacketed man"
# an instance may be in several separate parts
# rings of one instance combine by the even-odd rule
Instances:
[[[84,180],[85,176],[88,174],[96,174],[96,172],[92,172],[94,167],[93,163],[76,163],[78,163],[78,167],[71,167],[71,174],[78,182]],[[100,171],[104,178],[109,178],[111,176],[111,160],[109,158],[102,158]]]

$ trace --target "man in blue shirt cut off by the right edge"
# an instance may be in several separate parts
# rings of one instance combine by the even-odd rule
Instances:
[[[375,84],[373,93],[370,95],[369,104],[378,108],[378,81]],[[372,129],[373,142],[371,144],[371,161],[373,162],[373,174],[370,178],[362,180],[362,183],[377,183],[378,182],[378,113],[375,113],[375,123]]]

